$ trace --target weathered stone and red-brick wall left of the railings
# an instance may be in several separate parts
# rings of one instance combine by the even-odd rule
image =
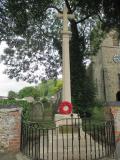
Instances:
[[[16,106],[0,106],[0,152],[20,150],[21,109]]]

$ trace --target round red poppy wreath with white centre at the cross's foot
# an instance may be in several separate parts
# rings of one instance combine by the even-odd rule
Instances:
[[[72,113],[72,103],[68,101],[63,101],[60,103],[59,106],[59,113],[60,114],[70,114]]]

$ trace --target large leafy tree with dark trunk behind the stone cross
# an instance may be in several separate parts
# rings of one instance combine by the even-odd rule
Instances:
[[[79,101],[86,87],[84,59],[89,50],[90,28],[96,25],[96,17],[97,19],[99,17],[104,24],[111,23],[113,27],[115,16],[111,15],[111,18],[108,15],[111,11],[117,14],[119,10],[115,10],[116,5],[111,0],[107,2],[1,0],[0,40],[8,44],[2,61],[8,67],[5,73],[9,78],[15,77],[17,80],[23,79],[29,82],[37,82],[45,75],[46,78],[56,78],[60,72],[62,57],[59,34],[62,24],[56,13],[62,13],[64,4],[68,8],[68,13],[74,13],[77,17],[69,21],[72,31],[70,42],[72,99]],[[119,22],[119,16],[117,17],[116,21]],[[38,70],[41,74],[37,72]]]

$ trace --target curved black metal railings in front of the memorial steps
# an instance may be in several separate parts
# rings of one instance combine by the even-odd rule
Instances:
[[[80,117],[41,128],[40,123],[23,122],[21,152],[34,160],[96,160],[115,151],[113,121],[94,124]]]

